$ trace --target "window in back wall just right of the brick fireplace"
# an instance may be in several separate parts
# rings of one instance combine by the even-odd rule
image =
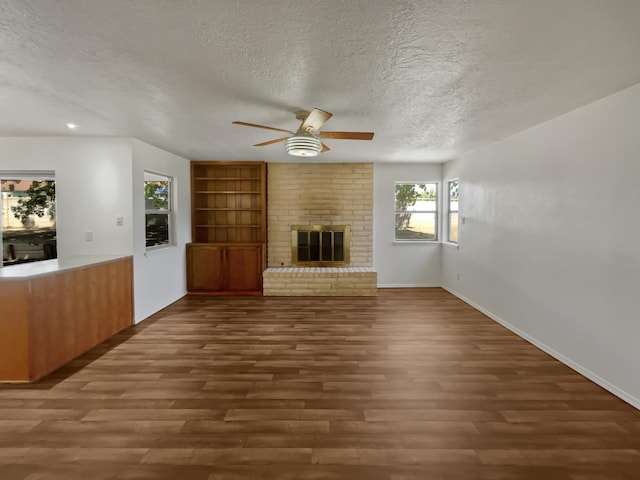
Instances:
[[[396,183],[395,224],[398,241],[437,241],[438,184]]]

